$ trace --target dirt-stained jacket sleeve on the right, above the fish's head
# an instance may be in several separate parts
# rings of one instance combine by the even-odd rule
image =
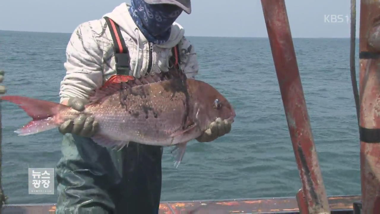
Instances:
[[[198,74],[198,59],[194,46],[183,37],[179,43],[180,50],[180,67],[186,74],[187,78],[195,78]]]

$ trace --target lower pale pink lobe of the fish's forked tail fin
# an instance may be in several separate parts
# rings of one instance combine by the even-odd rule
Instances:
[[[17,129],[14,131],[18,134],[18,136],[26,136],[30,134],[36,134],[39,132],[47,131],[50,129],[54,129],[58,124],[52,122],[52,118],[45,118],[43,120],[32,120],[27,125],[22,127],[21,129]]]

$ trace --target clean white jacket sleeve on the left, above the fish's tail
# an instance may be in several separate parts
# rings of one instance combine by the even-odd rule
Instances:
[[[93,35],[93,22],[79,25],[71,35],[64,63],[66,75],[61,81],[61,102],[67,97],[89,98],[101,86],[103,51]]]

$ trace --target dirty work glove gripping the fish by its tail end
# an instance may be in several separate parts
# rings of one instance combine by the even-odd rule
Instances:
[[[82,112],[88,103],[86,99],[70,97],[67,105]],[[58,130],[62,134],[71,133],[82,137],[92,137],[99,129],[99,124],[93,117],[80,114],[74,120],[67,120],[59,126]]]

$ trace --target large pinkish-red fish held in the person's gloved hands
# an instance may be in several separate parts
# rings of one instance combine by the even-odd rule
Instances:
[[[136,79],[115,75],[94,91],[83,112],[55,102],[21,96],[3,96],[33,118],[15,131],[19,136],[56,128],[79,114],[99,123],[93,141],[121,149],[133,141],[148,145],[176,145],[175,166],[188,141],[200,136],[216,118],[233,122],[236,116],[227,99],[211,85],[182,77],[153,75]]]

